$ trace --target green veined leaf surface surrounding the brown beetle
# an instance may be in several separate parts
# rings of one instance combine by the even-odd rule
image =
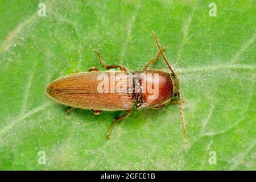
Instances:
[[[0,3],[0,169],[256,169],[255,2],[39,1]],[[177,105],[94,115],[50,100],[52,80],[90,67],[143,68],[156,32],[181,80]],[[151,69],[169,71],[162,59]],[[46,152],[46,165],[38,163]],[[216,154],[216,164],[212,163]]]

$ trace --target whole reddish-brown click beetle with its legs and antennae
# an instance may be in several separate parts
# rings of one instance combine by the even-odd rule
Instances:
[[[134,105],[137,109],[145,107],[160,109],[168,103],[179,104],[184,139],[187,140],[179,78],[164,56],[163,52],[166,48],[160,47],[158,38],[154,32],[153,34],[158,52],[154,59],[148,61],[142,71],[128,73],[121,65],[106,65],[101,59],[100,52],[96,51],[98,60],[105,69],[119,68],[121,72],[101,72],[92,67],[88,72],[60,77],[47,86],[48,96],[61,104],[71,106],[68,112],[76,107],[90,109],[94,114],[100,114],[102,110],[125,110],[126,114],[115,118],[110,125],[106,135],[108,139],[115,122],[127,117]],[[163,57],[171,73],[147,69],[158,60],[159,56]],[[120,90],[115,90],[117,85]],[[177,97],[177,101],[175,101],[175,97]]]

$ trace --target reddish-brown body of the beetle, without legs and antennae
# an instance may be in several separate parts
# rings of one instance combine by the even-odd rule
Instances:
[[[158,75],[158,78],[152,76]],[[106,92],[99,92],[102,75],[106,75],[108,88]],[[116,79],[119,76],[122,79]],[[129,77],[131,76],[131,77]],[[113,78],[112,78],[113,77]],[[114,80],[114,92],[111,92],[112,80]],[[121,81],[121,83],[120,83]],[[176,81],[176,80],[175,80]],[[149,92],[145,89],[148,85],[158,85],[158,89]],[[126,88],[127,92],[118,92],[117,85]],[[174,95],[175,87],[170,73],[156,70],[124,72],[84,72],[60,77],[47,86],[47,94],[53,100],[61,104],[90,110],[128,110],[135,102],[137,109],[144,107],[158,107],[170,101]],[[123,90],[123,91],[126,91]],[[138,90],[138,92],[136,92]],[[154,96],[158,92],[158,97]]]

